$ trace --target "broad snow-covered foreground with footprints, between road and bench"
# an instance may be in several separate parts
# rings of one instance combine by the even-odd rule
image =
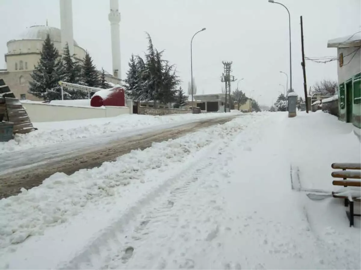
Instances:
[[[55,174],[0,200],[0,267],[359,269],[361,220],[349,228],[342,200],[311,201],[290,177],[331,191],[331,163],[359,147],[326,113],[258,113]]]

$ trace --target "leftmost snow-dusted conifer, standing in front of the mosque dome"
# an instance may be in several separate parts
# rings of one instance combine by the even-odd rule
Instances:
[[[61,80],[61,61],[58,59],[58,50],[47,35],[40,53],[38,65],[30,75],[29,93],[46,101],[60,99],[61,92],[59,81]]]

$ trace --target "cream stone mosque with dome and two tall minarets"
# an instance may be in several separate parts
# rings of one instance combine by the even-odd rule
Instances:
[[[8,52],[5,53],[6,69],[0,70],[0,78],[4,79],[17,98],[40,100],[27,91],[29,81],[31,81],[30,74],[34,70],[34,66],[38,64],[43,42],[48,34],[60,55],[65,44],[68,43],[70,54],[75,54],[77,60],[82,61],[85,57],[86,50],[80,47],[73,38],[71,5],[71,0],[60,0],[61,29],[48,25],[31,26],[22,32],[17,39],[8,41]],[[121,84],[118,0],[110,0],[109,21],[112,34],[113,73],[106,72],[105,76],[109,83]]]

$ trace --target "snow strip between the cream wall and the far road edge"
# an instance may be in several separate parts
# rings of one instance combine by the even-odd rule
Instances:
[[[234,112],[232,114],[240,114]],[[229,114],[178,114],[166,116],[121,115],[113,118],[95,118],[61,122],[33,123],[38,130],[17,134],[14,140],[0,142],[0,153],[25,150],[38,146],[97,137],[103,134],[127,132],[165,124],[184,124],[201,119],[224,117]]]

